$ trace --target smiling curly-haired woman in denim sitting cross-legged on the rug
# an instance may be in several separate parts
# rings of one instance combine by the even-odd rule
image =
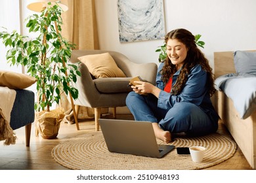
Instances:
[[[165,143],[173,133],[199,136],[216,131],[219,116],[210,100],[213,73],[194,35],[174,29],[165,35],[165,44],[167,58],[158,67],[156,86],[142,81],[131,86],[127,107],[135,120],[152,122],[156,137]]]

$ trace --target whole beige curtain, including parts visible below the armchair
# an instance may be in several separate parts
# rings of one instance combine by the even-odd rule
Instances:
[[[68,10],[62,14],[62,37],[73,42],[76,50],[98,50],[95,1],[62,0],[61,3],[68,6]],[[64,122],[74,124],[74,112],[66,94],[61,96],[60,107],[63,107],[66,113]],[[94,118],[94,109],[80,107],[77,118],[79,120]]]

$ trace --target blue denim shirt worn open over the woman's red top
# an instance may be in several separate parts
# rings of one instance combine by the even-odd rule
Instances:
[[[207,73],[203,71],[201,65],[196,65],[190,71],[188,80],[179,95],[173,95],[171,93],[163,91],[164,84],[161,80],[160,71],[164,63],[161,63],[158,67],[158,74],[156,76],[156,86],[161,89],[158,97],[158,107],[163,109],[169,109],[179,102],[188,102],[197,105],[202,108],[204,112],[210,114],[212,119],[217,120],[219,118],[217,112],[215,112],[210,100],[209,88],[207,88]],[[175,84],[177,77],[179,76],[181,69],[173,75],[173,84]],[[212,116],[212,115],[213,116]]]

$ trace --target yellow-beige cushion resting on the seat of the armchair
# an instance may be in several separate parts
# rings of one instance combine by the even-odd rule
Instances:
[[[114,78],[114,77],[126,77],[123,71],[116,65],[116,61],[110,56],[110,54],[94,54],[81,56],[78,58],[82,63],[85,63],[89,72],[95,76],[95,78]]]

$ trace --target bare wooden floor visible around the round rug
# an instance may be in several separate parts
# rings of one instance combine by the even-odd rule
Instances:
[[[106,117],[108,118],[108,117]],[[120,114],[119,119],[131,119],[129,115]],[[84,120],[79,122],[80,130],[77,131],[75,124],[60,124],[60,130],[56,139],[42,139],[35,137],[35,128],[32,124],[32,136],[30,139],[30,147],[25,145],[25,129],[24,127],[16,129],[18,141],[11,146],[4,146],[3,141],[0,142],[0,169],[1,170],[66,170],[54,161],[51,156],[51,150],[60,142],[82,135],[88,131],[95,131],[93,120]],[[229,135],[223,124],[219,125],[219,133]],[[244,158],[240,148],[236,150],[234,156],[219,165],[209,167],[211,170],[250,170],[251,167]]]

